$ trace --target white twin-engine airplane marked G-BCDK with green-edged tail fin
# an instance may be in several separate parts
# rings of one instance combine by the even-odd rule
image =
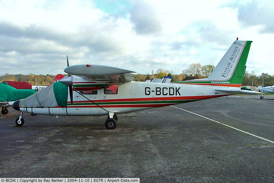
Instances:
[[[21,111],[16,125],[23,125],[25,112],[41,115],[108,115],[107,129],[115,129],[117,114],[228,96],[241,90],[252,41],[233,42],[206,79],[170,83],[138,82],[133,71],[104,65],[81,64],[64,69],[68,76],[53,85],[14,102]]]

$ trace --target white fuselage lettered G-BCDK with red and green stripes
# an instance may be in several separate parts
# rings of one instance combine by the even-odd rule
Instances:
[[[108,93],[104,88],[90,93],[84,91],[82,95],[80,94],[81,91],[73,91],[73,103],[70,102],[68,95],[67,107],[32,107],[20,108],[20,110],[42,115],[97,116],[108,115],[109,111],[115,114],[129,113],[231,95],[227,92],[216,92],[216,86],[212,85],[137,81],[113,84],[118,87],[115,91],[116,94]]]

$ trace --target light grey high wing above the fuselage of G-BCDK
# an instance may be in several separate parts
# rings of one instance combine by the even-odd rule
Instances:
[[[117,67],[96,64],[79,64],[72,65],[64,69],[64,72],[98,82],[130,82],[135,79],[130,73],[134,71],[125,70]]]

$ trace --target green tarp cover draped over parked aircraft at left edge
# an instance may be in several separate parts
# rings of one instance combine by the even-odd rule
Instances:
[[[11,102],[20,99],[27,98],[28,96],[34,94],[36,90],[32,89],[16,89],[10,85],[0,83],[0,101],[1,102]]]

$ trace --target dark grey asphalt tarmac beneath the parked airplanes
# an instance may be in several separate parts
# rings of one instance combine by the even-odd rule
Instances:
[[[178,104],[274,141],[273,95]],[[0,116],[1,178],[140,178],[140,182],[274,182],[274,143],[170,106],[106,116]]]

